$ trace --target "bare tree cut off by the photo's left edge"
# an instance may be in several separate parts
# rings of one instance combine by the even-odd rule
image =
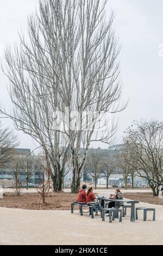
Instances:
[[[0,167],[5,166],[11,160],[13,149],[17,145],[17,136],[12,130],[3,128],[0,121]]]

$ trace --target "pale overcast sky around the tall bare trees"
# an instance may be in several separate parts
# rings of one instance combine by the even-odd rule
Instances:
[[[27,15],[35,10],[37,0],[0,0],[0,56],[4,48],[18,40],[18,29],[26,31]],[[163,57],[159,45],[163,44],[162,0],[110,0],[110,10],[116,13],[115,28],[122,42],[121,74],[123,99],[130,99],[120,118],[117,139],[134,119],[163,120]],[[7,78],[0,70],[0,102],[10,106]],[[8,119],[5,125],[13,127]],[[22,132],[16,132],[20,147],[34,149],[34,141]],[[93,145],[95,147],[95,145]],[[98,144],[97,144],[98,147]],[[103,146],[104,147],[104,146]]]

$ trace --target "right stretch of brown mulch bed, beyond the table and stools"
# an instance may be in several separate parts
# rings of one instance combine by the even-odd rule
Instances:
[[[131,200],[139,200],[143,203],[163,205],[163,196],[162,198],[154,197],[152,193],[123,193],[123,197]]]

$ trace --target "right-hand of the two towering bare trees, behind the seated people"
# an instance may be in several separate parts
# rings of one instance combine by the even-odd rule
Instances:
[[[55,64],[55,70],[51,72],[55,77],[53,91],[61,97],[58,110],[65,113],[67,108],[68,113],[69,125],[65,133],[70,139],[74,193],[80,187],[90,143],[109,143],[114,131],[106,120],[101,124],[105,129],[99,135],[97,123],[99,120],[102,123],[104,113],[123,109],[115,105],[119,103],[122,91],[116,60],[120,48],[112,29],[114,15],[111,14],[108,21],[105,19],[106,2],[100,5],[99,0],[41,1],[40,5],[42,31],[46,33],[51,61]],[[74,115],[77,116],[76,122]],[[106,123],[109,123],[111,132]],[[80,155],[81,146],[84,148],[83,157]]]

